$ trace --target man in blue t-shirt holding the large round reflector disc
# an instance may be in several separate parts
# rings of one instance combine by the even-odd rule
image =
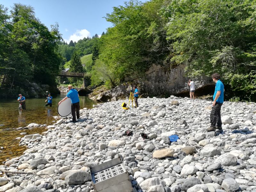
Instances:
[[[59,105],[61,102],[65,101],[66,99],[71,99],[71,114],[72,114],[72,121],[76,122],[76,117],[79,119],[80,114],[80,105],[79,105],[79,94],[75,89],[72,89],[72,85],[68,85],[68,94],[67,96],[59,102]]]

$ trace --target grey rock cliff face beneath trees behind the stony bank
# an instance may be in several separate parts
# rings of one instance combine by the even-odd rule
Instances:
[[[123,99],[129,96],[128,87],[131,86],[131,84],[138,86],[140,96],[142,97],[169,97],[170,95],[188,94],[189,87],[187,82],[189,77],[185,76],[184,69],[185,65],[179,65],[175,68],[154,65],[149,68],[143,77],[138,79],[127,78],[126,80],[130,81],[130,84],[121,84],[114,89],[101,92],[93,97],[89,95],[89,97],[97,101],[115,101]],[[198,90],[196,91],[197,96],[208,94],[210,90],[207,89],[207,87],[213,85],[210,77],[201,76],[193,79],[193,81],[196,84],[196,90]]]

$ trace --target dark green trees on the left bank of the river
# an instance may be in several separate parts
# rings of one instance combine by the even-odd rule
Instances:
[[[10,14],[0,5],[0,26],[1,93],[17,94],[28,80],[55,84],[62,64],[58,24],[49,30],[31,6],[14,4]]]

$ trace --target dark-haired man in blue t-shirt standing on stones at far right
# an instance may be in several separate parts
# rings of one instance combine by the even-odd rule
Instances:
[[[217,128],[217,132],[222,132],[222,122],[220,116],[220,109],[224,102],[224,85],[220,81],[220,74],[214,73],[212,74],[212,80],[215,84],[215,91],[213,95],[213,103],[212,103],[212,110],[210,114],[210,122],[211,125],[206,131],[215,131]],[[217,126],[216,126],[217,123]]]

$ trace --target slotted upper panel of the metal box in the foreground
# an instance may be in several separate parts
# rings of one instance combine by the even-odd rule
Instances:
[[[114,177],[114,176],[119,175],[119,174],[124,173],[124,172],[125,172],[125,169],[122,166],[122,164],[118,164],[118,165],[115,165],[115,166],[110,167],[108,169],[105,169],[103,171],[94,173],[93,174],[94,181],[95,181],[95,183],[98,183],[100,181],[104,181],[106,179],[109,179],[111,177]]]

